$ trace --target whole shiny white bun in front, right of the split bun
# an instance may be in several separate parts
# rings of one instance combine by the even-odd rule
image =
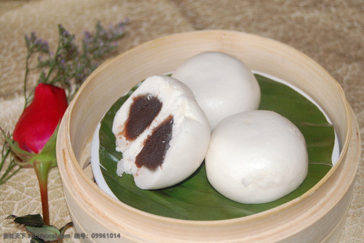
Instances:
[[[294,191],[306,178],[308,154],[300,130],[273,111],[223,119],[211,133],[206,175],[225,197],[267,203]]]

